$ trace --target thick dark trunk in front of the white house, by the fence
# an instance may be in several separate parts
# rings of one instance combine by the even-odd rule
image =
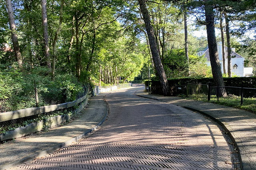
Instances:
[[[208,2],[209,0],[205,0]],[[212,67],[212,77],[216,86],[224,87],[224,81],[222,78],[220,61],[218,56],[218,47],[215,36],[215,25],[214,25],[214,11],[212,5],[205,4],[205,21],[206,21],[206,32],[207,41],[209,47],[210,63]],[[225,88],[220,88],[220,94],[226,97]]]

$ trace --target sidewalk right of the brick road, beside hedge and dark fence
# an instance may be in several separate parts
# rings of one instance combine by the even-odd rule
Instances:
[[[234,138],[240,151],[242,169],[256,170],[256,115],[254,113],[210,102],[148,94],[145,92],[145,87],[136,91],[136,95],[185,107],[215,119],[224,125]]]

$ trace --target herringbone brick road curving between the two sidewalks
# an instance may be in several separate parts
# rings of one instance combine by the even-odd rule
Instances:
[[[230,149],[214,123],[199,113],[137,97],[138,89],[106,95],[110,114],[90,137],[16,169],[232,169]]]

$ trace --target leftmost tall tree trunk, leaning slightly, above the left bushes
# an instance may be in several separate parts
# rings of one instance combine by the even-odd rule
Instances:
[[[13,16],[13,10],[12,10],[12,1],[11,0],[6,0],[6,8],[7,8],[7,12],[8,12],[9,25],[10,25],[10,29],[11,29],[14,56],[15,56],[16,61],[18,62],[19,67],[22,69],[22,57],[21,57],[21,53],[20,53],[18,35],[16,33],[16,25],[15,25],[15,22],[14,22],[14,16]]]

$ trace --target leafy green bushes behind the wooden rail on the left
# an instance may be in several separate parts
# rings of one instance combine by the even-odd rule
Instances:
[[[36,107],[35,84],[39,105],[46,106],[76,100],[82,84],[72,74],[58,74],[52,81],[45,67],[35,67],[30,74],[5,64],[0,68],[0,102],[5,106],[1,112]],[[3,108],[2,108],[3,109]]]

